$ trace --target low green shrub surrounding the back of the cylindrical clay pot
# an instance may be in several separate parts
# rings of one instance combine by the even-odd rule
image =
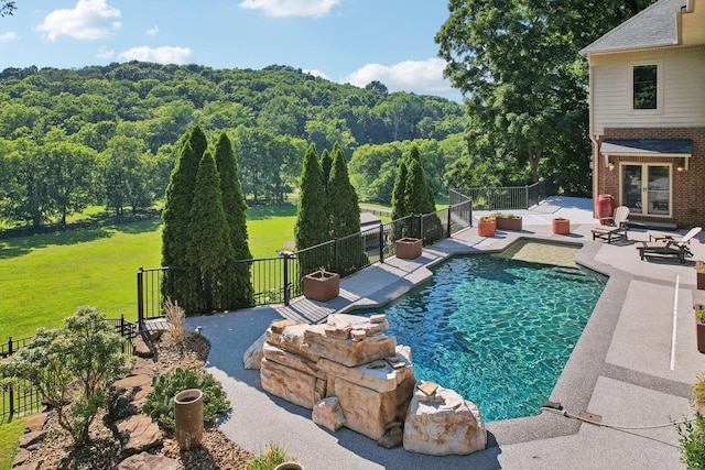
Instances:
[[[206,371],[177,368],[173,372],[152,379],[153,390],[147,395],[142,411],[166,430],[174,430],[174,396],[187,389],[203,392],[203,420],[213,424],[230,409],[223,385]]]

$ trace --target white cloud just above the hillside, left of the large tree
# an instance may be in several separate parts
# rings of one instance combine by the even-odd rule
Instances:
[[[384,84],[390,91],[411,91],[417,95],[442,95],[452,90],[443,78],[445,62],[440,58],[405,61],[392,66],[367,64],[341,81],[365,87],[370,81]]]

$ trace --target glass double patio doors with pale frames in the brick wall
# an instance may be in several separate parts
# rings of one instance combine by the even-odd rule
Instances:
[[[671,165],[632,164],[620,166],[621,204],[633,214],[671,214]]]

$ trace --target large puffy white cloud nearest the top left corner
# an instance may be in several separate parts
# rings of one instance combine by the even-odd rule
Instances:
[[[65,34],[76,40],[99,40],[119,29],[120,10],[106,3],[106,0],[78,0],[73,10],[54,10],[44,18],[36,31],[47,33],[50,41]]]

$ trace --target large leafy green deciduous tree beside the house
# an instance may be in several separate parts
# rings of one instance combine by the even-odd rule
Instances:
[[[476,129],[470,152],[517,168],[519,174],[506,173],[514,182],[503,184],[549,176],[557,166],[541,161],[561,156],[577,162],[577,171],[564,175],[566,184],[588,184],[588,73],[578,51],[644,3],[650,2],[449,3],[451,15],[435,37],[447,62],[445,75],[469,97]]]

